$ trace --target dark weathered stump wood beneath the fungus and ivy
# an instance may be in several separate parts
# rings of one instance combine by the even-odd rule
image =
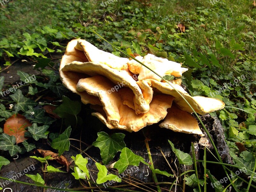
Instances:
[[[14,66],[10,67],[8,71],[9,73],[2,72],[1,75],[4,75],[5,77],[8,76],[13,76],[12,78],[6,78],[6,83],[7,84],[13,84],[19,81],[19,76],[16,75],[17,70],[24,71],[26,73],[29,73],[30,75],[32,74],[38,74],[37,71],[33,70],[33,67],[27,65],[27,64],[22,64],[22,63],[16,63]],[[70,93],[71,97],[75,97],[79,99],[79,97],[74,96],[74,94]],[[82,130],[82,141],[86,142],[87,144],[92,144],[93,141],[97,139],[97,131],[101,129],[101,131],[105,131],[108,134],[112,134],[114,132],[123,132],[120,130],[109,130],[108,128],[104,127],[103,124],[100,123],[100,121],[88,115],[88,110],[89,106],[86,106],[86,110],[84,110],[84,125],[80,127],[80,130],[76,130],[75,133],[72,134],[71,138],[76,138],[80,139],[80,132]],[[232,163],[231,158],[228,155],[228,148],[226,145],[226,142],[224,140],[223,136],[223,131],[220,125],[220,121],[216,118],[212,118],[209,115],[202,116],[201,117],[204,124],[206,124],[207,129],[210,131],[212,134],[212,137],[220,151],[220,155],[222,156],[224,162],[227,163]],[[59,123],[59,124],[58,124]],[[213,126],[213,127],[212,127]],[[54,126],[52,126],[50,132],[58,132],[59,130],[56,127],[60,127],[60,122],[56,122]],[[54,130],[55,129],[55,130]],[[139,132],[123,132],[126,136],[124,138],[124,141],[126,143],[126,146],[132,151],[137,154],[142,156],[146,162],[148,162],[148,154],[147,154],[147,149],[145,146],[145,136],[150,140],[149,141],[149,147],[153,159],[153,163],[156,169],[160,170],[165,170],[171,174],[173,174],[172,170],[170,169],[169,165],[166,163],[164,156],[170,163],[172,169],[175,171],[175,174],[177,174],[177,168],[175,164],[178,166],[178,160],[176,159],[175,155],[171,151],[170,145],[168,143],[168,140],[171,140],[172,143],[174,143],[176,148],[179,148],[181,151],[184,151],[186,153],[191,153],[191,142],[194,143],[196,146],[196,157],[198,159],[203,159],[203,146],[199,144],[199,139],[200,137],[196,135],[191,135],[191,134],[184,134],[184,133],[176,133],[172,132],[171,130],[167,130],[164,128],[158,127],[158,125],[151,125],[146,128],[143,128]],[[206,136],[207,138],[207,136]],[[80,144],[77,141],[71,141],[71,144],[73,146],[76,146],[76,148],[80,148]],[[82,150],[84,150],[87,146],[84,144],[81,144]],[[39,149],[44,149],[44,150],[52,150],[52,148],[49,147],[46,143],[36,143],[36,147]],[[76,156],[76,154],[80,153],[80,150],[77,150],[74,147],[70,147],[70,150],[68,152],[65,152],[65,156],[67,157],[68,160],[71,160],[71,156]],[[160,149],[162,149],[164,156],[161,154]],[[210,146],[211,148],[211,146]],[[213,151],[213,150],[212,150]],[[53,152],[56,152],[53,150]],[[6,158],[8,158],[11,163],[7,166],[3,166],[0,174],[2,177],[6,178],[12,178],[15,175],[19,175],[19,178],[17,180],[23,181],[23,182],[28,182],[28,183],[33,183],[32,180],[28,179],[24,175],[24,170],[30,167],[30,171],[27,172],[27,174],[36,174],[39,173],[43,177],[43,172],[41,169],[41,163],[36,161],[35,159],[29,158],[29,156],[41,156],[40,154],[36,153],[34,154],[33,152],[29,152],[23,155],[20,155],[18,159],[13,160],[10,156],[6,155],[7,153],[1,152],[2,156],[5,155]],[[97,169],[95,166],[95,163],[93,160],[96,160],[97,162],[100,162],[100,151],[98,148],[92,147],[86,153],[90,156],[89,157],[89,162],[88,162],[88,168],[91,173],[91,180],[93,179],[96,181],[97,179]],[[117,156],[114,158],[114,161],[118,159],[120,152],[117,154]],[[84,157],[88,157],[87,155],[83,155]],[[93,159],[93,160],[92,160]],[[213,160],[214,157],[210,153],[207,153],[207,160]],[[50,162],[54,167],[60,167],[61,165],[51,161]],[[152,162],[151,162],[152,163]],[[35,166],[35,170],[32,170],[33,166]],[[193,166],[186,167],[186,170],[188,169],[193,169]],[[220,166],[214,166],[211,167],[209,166],[208,169],[210,169],[211,173],[214,174],[214,176],[219,176],[219,178],[223,178],[223,173],[221,172],[221,167]],[[65,168],[62,169],[65,171]],[[184,170],[184,167],[181,166],[181,170]],[[199,172],[200,172],[200,167],[199,167]],[[202,169],[203,170],[203,169]],[[45,174],[45,181],[47,183],[47,186],[50,187],[57,187],[57,188],[65,188],[65,185],[67,184],[68,188],[81,188],[81,185],[79,184],[78,180],[75,180],[73,175],[71,174],[72,170],[70,170],[68,173],[46,173]],[[21,175],[20,175],[20,174]],[[111,173],[116,174],[116,171],[111,171]],[[17,176],[18,177],[18,176]],[[133,171],[130,173],[131,178],[137,179],[137,182],[153,182],[152,180],[152,174],[148,166],[145,164],[140,164],[139,170]],[[158,182],[172,182],[174,179],[173,178],[168,178],[165,176],[158,175]],[[129,176],[125,176],[124,180],[129,181]],[[217,178],[218,179],[218,178]],[[134,179],[132,179],[134,180]],[[53,189],[45,189],[43,188],[36,188],[34,186],[29,186],[29,185],[23,185],[15,182],[11,183],[4,183],[4,180],[0,180],[1,184],[3,187],[8,187],[12,188],[12,191],[15,192],[33,192],[33,191],[46,191],[46,192],[53,192],[53,191],[59,191],[59,190],[53,190]],[[132,181],[133,182],[133,181]],[[179,181],[180,184],[182,185],[182,180]],[[86,186],[86,182],[84,183]],[[122,184],[127,184],[125,182],[122,182]],[[5,186],[4,186],[5,185]],[[113,184],[112,186],[117,185],[116,183]],[[148,185],[148,187],[152,187]],[[164,189],[170,188],[170,185],[161,185],[160,187],[163,187],[162,191],[166,191]],[[143,187],[145,188],[145,187]],[[136,188],[136,187],[129,187],[129,189],[133,189],[136,191],[144,191],[142,189]],[[103,189],[102,189],[103,190]],[[104,189],[105,191],[113,191],[111,189]],[[103,190],[103,191],[104,191]],[[148,189],[151,191],[151,189]],[[156,190],[156,188],[152,187],[152,191]],[[85,190],[85,191],[90,191],[90,190]],[[173,190],[174,191],[174,188]],[[182,191],[180,187],[177,187],[177,192]],[[187,191],[187,190],[186,190]],[[188,190],[189,191],[189,190]],[[212,191],[212,188],[209,188],[207,191]]]

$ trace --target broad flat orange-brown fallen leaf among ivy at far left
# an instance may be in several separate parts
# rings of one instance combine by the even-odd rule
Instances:
[[[27,132],[25,128],[31,125],[32,123],[30,123],[25,116],[14,114],[6,120],[4,124],[4,133],[14,136],[16,138],[16,144],[18,144],[28,139],[24,137],[25,132]]]

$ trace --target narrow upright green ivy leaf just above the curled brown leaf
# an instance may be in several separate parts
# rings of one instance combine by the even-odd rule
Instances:
[[[54,139],[51,143],[51,147],[58,149],[59,156],[64,152],[69,150],[69,136],[71,132],[71,127],[69,126],[63,133],[59,135],[58,138]]]

